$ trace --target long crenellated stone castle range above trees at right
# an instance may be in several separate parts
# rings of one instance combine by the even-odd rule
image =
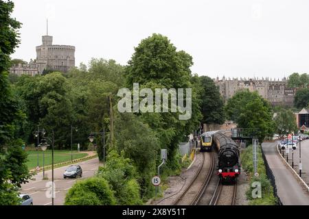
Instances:
[[[288,88],[286,77],[277,81],[275,79],[226,79],[218,77],[214,79],[216,86],[220,89],[220,94],[225,101],[233,96],[238,90],[249,89],[250,91],[257,91],[264,99],[267,99],[272,105],[288,105],[293,106],[295,88]]]

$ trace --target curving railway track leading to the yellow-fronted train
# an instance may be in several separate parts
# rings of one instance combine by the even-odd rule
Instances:
[[[205,159],[206,156],[209,156],[209,162]],[[192,179],[187,188],[185,188],[185,191],[174,202],[174,205],[197,205],[207,188],[214,168],[214,153],[203,153],[203,164],[198,169],[198,172],[196,172],[194,179]],[[203,172],[207,172],[207,175],[205,176]]]

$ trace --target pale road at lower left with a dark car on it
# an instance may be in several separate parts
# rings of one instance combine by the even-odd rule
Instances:
[[[72,185],[76,183],[76,181],[87,179],[95,175],[95,172],[98,171],[98,167],[100,166],[98,157],[77,164],[82,167],[82,178],[78,177],[78,179],[63,179],[63,172],[65,172],[67,166],[54,169],[54,205],[63,205],[65,202],[65,195]],[[52,192],[49,192],[51,191],[52,185],[52,170],[45,171],[45,174],[47,174],[48,180],[42,180],[43,173],[39,172],[38,175],[34,176],[36,179],[35,181],[31,180],[21,187],[21,194],[30,194],[33,198],[34,205],[52,205],[52,198],[49,196],[49,194],[52,194]]]

